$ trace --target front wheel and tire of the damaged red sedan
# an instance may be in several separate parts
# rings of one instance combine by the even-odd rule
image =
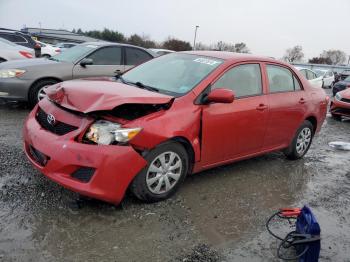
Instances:
[[[169,164],[171,156],[173,156],[173,161]],[[186,149],[179,143],[166,142],[151,150],[145,159],[148,164],[134,178],[130,186],[131,192],[138,199],[149,203],[172,196],[188,172],[189,158]],[[164,166],[160,159],[163,159]],[[171,172],[168,168],[174,169]],[[169,186],[168,189],[167,186]]]

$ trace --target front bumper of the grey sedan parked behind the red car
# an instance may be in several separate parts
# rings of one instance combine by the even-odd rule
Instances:
[[[27,101],[31,80],[16,77],[0,79],[0,98],[13,101]]]

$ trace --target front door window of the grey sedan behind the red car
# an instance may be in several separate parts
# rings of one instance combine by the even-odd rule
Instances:
[[[121,57],[120,47],[104,47],[88,56],[94,65],[120,65]]]

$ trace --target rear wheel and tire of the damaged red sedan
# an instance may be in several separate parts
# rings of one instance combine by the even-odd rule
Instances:
[[[310,121],[305,120],[298,128],[289,147],[284,150],[284,154],[290,160],[302,158],[309,150],[314,136],[314,126]]]

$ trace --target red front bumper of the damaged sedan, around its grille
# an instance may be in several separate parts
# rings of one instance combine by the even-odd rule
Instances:
[[[40,102],[43,110],[48,103],[46,99]],[[49,113],[58,119],[69,114],[68,118],[81,121],[81,126],[65,135],[53,134],[38,123],[37,110],[38,106],[28,116],[23,129],[24,150],[30,162],[45,176],[72,191],[114,204],[121,202],[130,182],[147,165],[146,160],[131,146],[75,141],[88,121],[57,107]]]

